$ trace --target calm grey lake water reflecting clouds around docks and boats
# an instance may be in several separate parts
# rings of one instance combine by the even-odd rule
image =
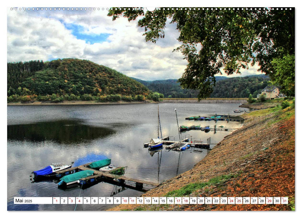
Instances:
[[[73,166],[111,159],[111,164],[128,166],[125,176],[162,182],[183,173],[203,159],[207,150],[190,148],[179,153],[150,152],[143,143],[157,137],[157,106],[163,136],[179,140],[179,126],[224,126],[238,128],[235,121],[188,121],[188,116],[234,115],[239,104],[124,104],[124,105],[49,105],[7,106],[7,210],[67,210],[75,205],[15,205],[14,197],[78,197],[80,188],[61,190],[56,181],[34,182],[30,173],[51,163]],[[237,114],[238,115],[238,114]],[[205,133],[191,130],[181,133],[211,143],[220,142],[227,131]],[[173,139],[173,138],[172,138]],[[212,147],[212,146],[211,146]],[[199,149],[200,150],[200,149]],[[160,169],[159,168],[160,163]],[[179,165],[179,167],[178,167]],[[81,197],[139,197],[143,192],[121,189],[105,182],[81,190]],[[106,210],[112,205],[77,205],[76,210]]]

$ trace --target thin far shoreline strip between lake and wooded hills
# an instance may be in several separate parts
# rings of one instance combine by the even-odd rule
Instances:
[[[223,103],[239,103],[239,104],[244,104],[246,103],[246,99],[231,99],[231,98],[219,98],[219,99],[206,99],[206,100],[201,100],[198,102],[196,98],[188,99],[188,98],[177,98],[177,99],[161,99],[160,102],[155,102],[152,100],[148,101],[142,101],[142,102],[124,102],[124,101],[118,101],[118,102],[95,102],[95,101],[63,101],[63,102],[15,102],[15,103],[7,103],[7,106],[20,106],[20,105],[104,105],[104,104],[158,104],[158,103],[206,103],[206,104],[211,104],[211,103],[218,103],[218,104],[223,104]]]

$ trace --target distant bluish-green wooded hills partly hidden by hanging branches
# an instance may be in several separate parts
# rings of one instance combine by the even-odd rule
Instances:
[[[257,97],[261,90],[267,86],[269,77],[261,74],[246,77],[228,78],[225,76],[217,76],[216,86],[214,87],[211,97],[219,98],[241,98]],[[154,81],[144,81],[133,78],[138,82],[144,84],[152,92],[160,92],[165,97],[172,98],[196,98],[198,91],[191,89],[182,89],[177,82],[177,79],[164,79]]]

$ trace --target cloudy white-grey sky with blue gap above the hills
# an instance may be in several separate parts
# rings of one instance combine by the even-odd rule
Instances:
[[[32,8],[7,8],[7,62],[88,59],[142,80],[180,78],[186,68],[183,55],[172,52],[181,45],[175,24],[154,44],[145,41],[137,21],[112,21],[106,7]],[[257,69],[242,70],[242,76],[259,74]]]

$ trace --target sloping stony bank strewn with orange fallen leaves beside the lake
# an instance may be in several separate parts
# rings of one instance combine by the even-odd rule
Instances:
[[[288,197],[289,204],[119,205],[110,210],[295,210],[295,105],[289,102],[285,109],[277,105],[244,114],[244,126],[226,136],[193,169],[142,195]]]

